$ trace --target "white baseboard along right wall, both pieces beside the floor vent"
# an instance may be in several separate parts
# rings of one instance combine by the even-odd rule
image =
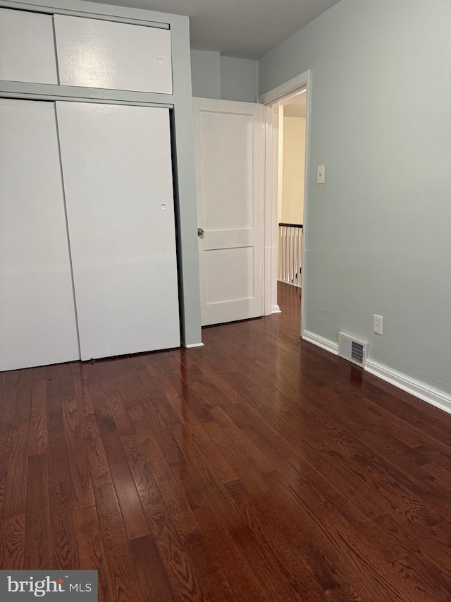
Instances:
[[[317,347],[321,347],[321,349],[326,349],[326,351],[338,355],[338,343],[330,341],[330,339],[320,337],[320,335],[316,335],[309,330],[302,332],[302,338]],[[371,359],[366,360],[364,369],[366,372],[385,380],[387,383],[395,385],[398,389],[402,389],[410,393],[410,395],[414,395],[414,397],[418,397],[422,401],[451,414],[451,395],[447,395],[443,391],[426,385],[426,383],[421,383],[419,380],[415,380],[406,374],[402,374],[393,370],[393,368],[388,368],[388,366],[384,366],[382,363]]]

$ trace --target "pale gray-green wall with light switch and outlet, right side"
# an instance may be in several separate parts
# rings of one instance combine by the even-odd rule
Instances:
[[[259,62],[260,94],[313,70],[304,328],[447,394],[450,31],[450,0],[342,0]]]

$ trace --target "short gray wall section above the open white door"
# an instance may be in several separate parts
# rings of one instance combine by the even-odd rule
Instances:
[[[258,61],[231,59],[219,52],[192,50],[192,95],[257,102],[258,65]]]

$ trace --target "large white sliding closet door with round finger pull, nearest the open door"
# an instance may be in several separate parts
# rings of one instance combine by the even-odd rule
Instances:
[[[178,347],[168,109],[56,111],[82,359]]]

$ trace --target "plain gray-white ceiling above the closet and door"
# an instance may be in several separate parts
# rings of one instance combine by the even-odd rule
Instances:
[[[97,0],[190,17],[191,47],[260,59],[339,0]]]

